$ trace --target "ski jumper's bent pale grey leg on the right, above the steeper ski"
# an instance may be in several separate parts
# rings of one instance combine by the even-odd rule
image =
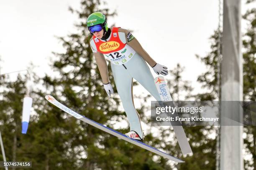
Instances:
[[[125,64],[129,73],[135,78],[151,95],[157,100],[161,101],[161,97],[156,89],[154,77],[151,74],[145,60],[137,53],[133,58]]]

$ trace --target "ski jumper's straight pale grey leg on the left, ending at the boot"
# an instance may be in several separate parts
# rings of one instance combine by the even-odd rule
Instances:
[[[123,65],[114,65],[111,63],[111,69],[118,94],[122,100],[123,108],[130,124],[130,130],[136,131],[143,138],[140,115],[133,105],[133,78]]]

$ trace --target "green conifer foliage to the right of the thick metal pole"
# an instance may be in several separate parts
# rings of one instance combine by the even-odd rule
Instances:
[[[255,0],[247,0],[247,3]],[[256,101],[256,8],[246,11],[243,19],[248,23],[248,28],[243,36],[243,99]],[[244,148],[252,160],[245,160],[246,169],[256,169],[256,127],[244,126],[246,138]]]

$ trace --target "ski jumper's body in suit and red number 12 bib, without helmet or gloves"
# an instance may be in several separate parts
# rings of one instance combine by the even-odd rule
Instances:
[[[127,115],[130,130],[136,131],[143,139],[140,115],[133,102],[133,78],[135,78],[157,101],[161,98],[154,83],[154,77],[146,64],[151,67],[156,62],[141,47],[138,40],[128,30],[114,27],[106,41],[93,36],[90,40],[103,83],[108,83],[106,60],[111,62],[115,85]]]

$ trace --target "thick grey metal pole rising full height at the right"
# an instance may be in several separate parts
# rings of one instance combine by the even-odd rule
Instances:
[[[243,170],[243,58],[241,53],[241,0],[223,2],[221,62],[220,170]]]

